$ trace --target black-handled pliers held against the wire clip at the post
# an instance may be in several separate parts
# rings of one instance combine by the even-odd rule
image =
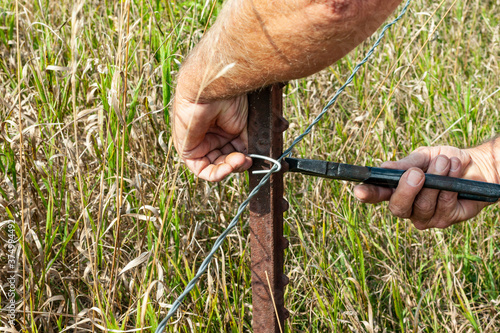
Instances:
[[[383,187],[396,188],[406,170],[334,163],[287,157],[288,171],[322,178],[363,182]],[[496,202],[500,198],[500,185],[469,179],[425,174],[424,187],[458,193],[458,199]]]

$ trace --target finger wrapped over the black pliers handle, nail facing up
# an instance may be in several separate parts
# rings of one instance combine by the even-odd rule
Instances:
[[[399,185],[389,200],[389,210],[395,216],[409,218],[412,213],[413,201],[424,186],[424,172],[419,168],[406,171]]]

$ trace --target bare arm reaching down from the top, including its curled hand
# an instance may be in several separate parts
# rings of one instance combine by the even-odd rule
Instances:
[[[249,91],[311,75],[369,37],[401,0],[228,0],[183,62],[175,147],[200,178],[251,166]]]

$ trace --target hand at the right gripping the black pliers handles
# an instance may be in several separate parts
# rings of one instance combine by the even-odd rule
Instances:
[[[498,183],[494,144],[472,149],[422,147],[396,162],[385,162],[383,168],[406,171],[396,189],[358,185],[356,197],[366,203],[389,201],[389,209],[398,217],[409,218],[419,230],[446,228],[476,216],[485,202],[457,200],[457,193],[422,188],[424,172]]]

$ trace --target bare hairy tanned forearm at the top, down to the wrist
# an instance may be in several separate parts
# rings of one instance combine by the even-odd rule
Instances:
[[[229,0],[183,64],[178,90],[210,101],[313,74],[369,37],[400,2]]]

